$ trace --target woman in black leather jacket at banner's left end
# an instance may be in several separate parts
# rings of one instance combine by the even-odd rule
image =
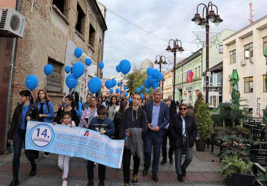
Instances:
[[[38,121],[39,111],[36,106],[33,105],[33,97],[29,90],[23,90],[20,92],[21,104],[18,105],[14,111],[8,141],[9,143],[13,141],[14,156],[13,156],[13,180],[9,186],[18,185],[18,173],[20,167],[20,157],[22,143],[25,144],[25,135],[27,128],[27,121]],[[25,155],[32,165],[30,176],[36,174],[36,163],[32,150],[25,150]]]

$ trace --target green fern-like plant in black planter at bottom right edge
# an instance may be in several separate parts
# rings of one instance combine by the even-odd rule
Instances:
[[[227,156],[222,160],[221,178],[226,186],[252,186],[255,177],[251,172],[252,165],[238,156]]]

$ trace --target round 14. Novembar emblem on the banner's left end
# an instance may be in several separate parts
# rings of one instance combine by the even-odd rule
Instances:
[[[38,124],[29,134],[29,141],[35,148],[48,148],[54,141],[54,130],[47,124]]]

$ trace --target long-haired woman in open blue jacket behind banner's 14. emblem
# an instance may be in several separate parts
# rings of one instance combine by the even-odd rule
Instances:
[[[34,102],[34,105],[37,106],[39,110],[39,121],[47,123],[53,122],[53,117],[55,114],[54,106],[45,90],[39,90],[37,101]],[[33,154],[35,157],[35,161],[37,161],[39,157],[39,151],[34,150]],[[48,157],[49,155],[49,152],[44,153],[44,157]]]

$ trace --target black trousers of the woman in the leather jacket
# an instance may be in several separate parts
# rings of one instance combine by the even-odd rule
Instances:
[[[26,129],[18,129],[13,138],[14,156],[13,156],[13,175],[18,176],[20,168],[21,148],[25,144]],[[31,162],[32,167],[35,167],[34,155],[32,150],[25,150],[25,155]]]

